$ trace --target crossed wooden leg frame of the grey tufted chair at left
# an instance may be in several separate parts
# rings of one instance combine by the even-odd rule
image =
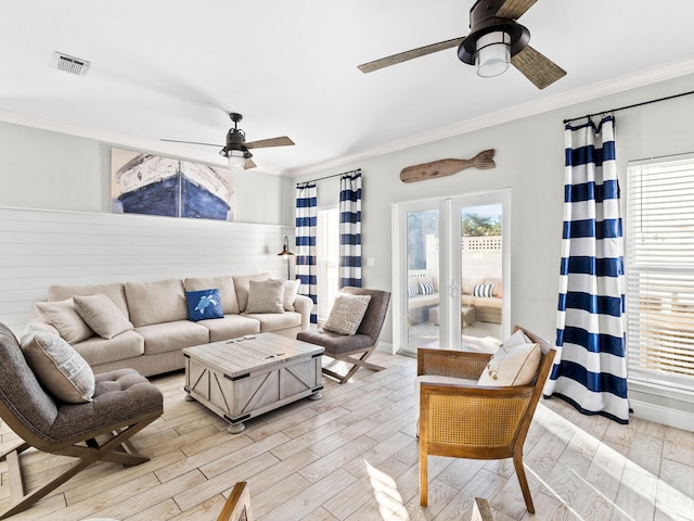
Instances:
[[[129,439],[159,416],[162,416],[160,410],[113,423],[90,432],[88,436],[79,436],[61,443],[50,444],[27,429],[13,412],[0,402],[0,417],[24,440],[24,442],[14,448],[0,454],[0,461],[3,459],[8,460],[10,495],[12,499],[11,507],[0,512],[0,519],[5,519],[26,510],[95,461],[112,461],[128,467],[149,461],[150,458],[139,454],[129,442]],[[101,443],[97,440],[98,437],[104,436],[105,440],[102,440]],[[30,447],[35,447],[43,453],[72,456],[79,458],[80,461],[69,467],[69,469],[49,483],[26,493],[20,456]]]

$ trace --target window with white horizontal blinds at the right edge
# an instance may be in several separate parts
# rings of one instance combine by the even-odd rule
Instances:
[[[629,379],[694,390],[694,155],[627,175]]]

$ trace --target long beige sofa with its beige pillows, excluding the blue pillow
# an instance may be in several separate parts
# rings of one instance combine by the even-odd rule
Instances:
[[[183,347],[266,331],[295,338],[308,330],[312,302],[297,288],[298,281],[273,282],[269,274],[51,285],[47,301],[36,303],[27,332],[60,334],[94,372],[131,367],[152,376],[182,369]],[[187,292],[211,289],[223,317],[192,321]],[[278,296],[279,304],[272,302]]]

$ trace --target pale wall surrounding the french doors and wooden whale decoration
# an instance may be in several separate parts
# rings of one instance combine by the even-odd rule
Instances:
[[[563,119],[692,90],[694,76],[682,77],[359,163],[346,163],[298,177],[296,181],[362,169],[362,255],[375,258],[374,267],[363,267],[363,285],[385,290],[393,290],[394,203],[510,188],[512,266],[511,280],[504,284],[511,284],[511,322],[554,341],[564,198]],[[461,99],[461,102],[466,101]],[[616,113],[622,193],[628,161],[694,151],[693,113],[694,96]],[[407,166],[447,157],[470,158],[485,149],[497,151],[494,169],[467,169],[450,177],[412,183],[399,180],[400,170]],[[319,182],[319,204],[321,188]],[[393,309],[382,333],[382,341],[386,343],[395,338],[391,316]],[[654,394],[652,390],[632,385],[630,399],[637,415],[657,421],[672,423],[666,418],[668,415],[681,420],[683,410],[691,415],[691,405],[685,399],[661,392]],[[679,427],[692,428],[691,416],[680,420],[676,422]]]

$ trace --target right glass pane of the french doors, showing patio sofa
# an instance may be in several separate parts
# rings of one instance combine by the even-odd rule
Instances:
[[[501,341],[502,205],[461,208],[463,350],[496,351]]]

